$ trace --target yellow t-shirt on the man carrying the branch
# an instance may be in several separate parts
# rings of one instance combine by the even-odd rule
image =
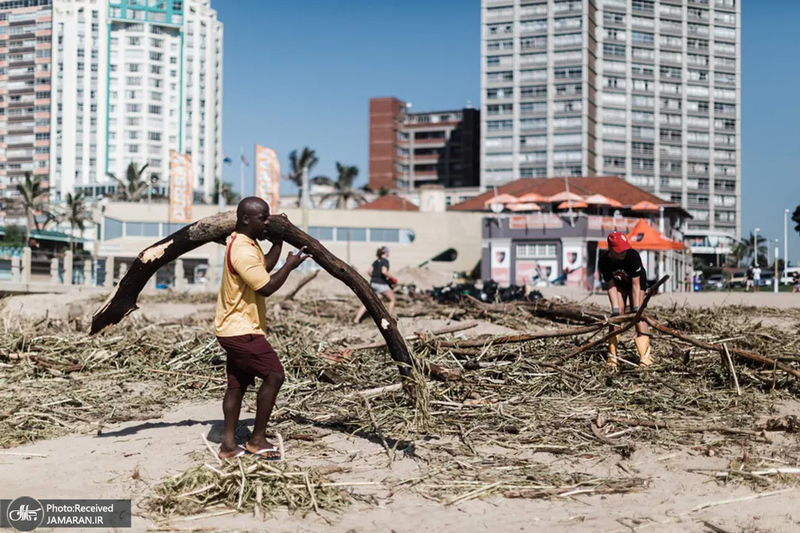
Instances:
[[[217,337],[264,335],[267,304],[256,291],[270,277],[261,247],[247,235],[234,232],[228,237],[222,271],[214,333]]]

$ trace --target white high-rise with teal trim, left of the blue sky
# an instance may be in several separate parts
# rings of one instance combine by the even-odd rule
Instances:
[[[171,150],[195,193],[222,176],[222,23],[208,0],[53,0],[54,201],[111,192],[130,163],[165,191]]]

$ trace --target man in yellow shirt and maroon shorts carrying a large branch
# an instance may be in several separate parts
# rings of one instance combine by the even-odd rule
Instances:
[[[284,215],[285,216],[285,215]],[[271,241],[264,255],[259,240],[266,238],[269,206],[261,198],[249,197],[236,208],[236,231],[225,247],[222,284],[217,297],[214,333],[227,353],[228,390],[222,403],[225,426],[219,456],[240,457],[246,452],[264,459],[277,459],[280,451],[267,441],[267,422],[275,398],[283,385],[284,373],[278,355],[266,338],[265,298],[278,290],[289,273],[309,256],[289,253],[283,267],[270,276],[281,255],[283,243]],[[236,444],[236,425],[247,387],[261,378],[256,397],[253,436],[244,448]]]

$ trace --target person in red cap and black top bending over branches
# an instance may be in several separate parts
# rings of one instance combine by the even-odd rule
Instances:
[[[644,300],[647,272],[642,265],[642,256],[631,248],[628,238],[624,234],[619,231],[609,234],[608,251],[600,256],[598,269],[608,290],[611,316],[624,314],[627,303],[630,303],[631,312],[637,312]],[[636,324],[635,342],[636,351],[639,352],[639,366],[652,365],[650,332],[646,322]],[[618,345],[619,335],[608,342],[608,368],[612,371],[619,368]]]

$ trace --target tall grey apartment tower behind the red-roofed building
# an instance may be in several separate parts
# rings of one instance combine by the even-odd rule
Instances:
[[[740,0],[482,0],[481,185],[619,175],[739,235]]]

